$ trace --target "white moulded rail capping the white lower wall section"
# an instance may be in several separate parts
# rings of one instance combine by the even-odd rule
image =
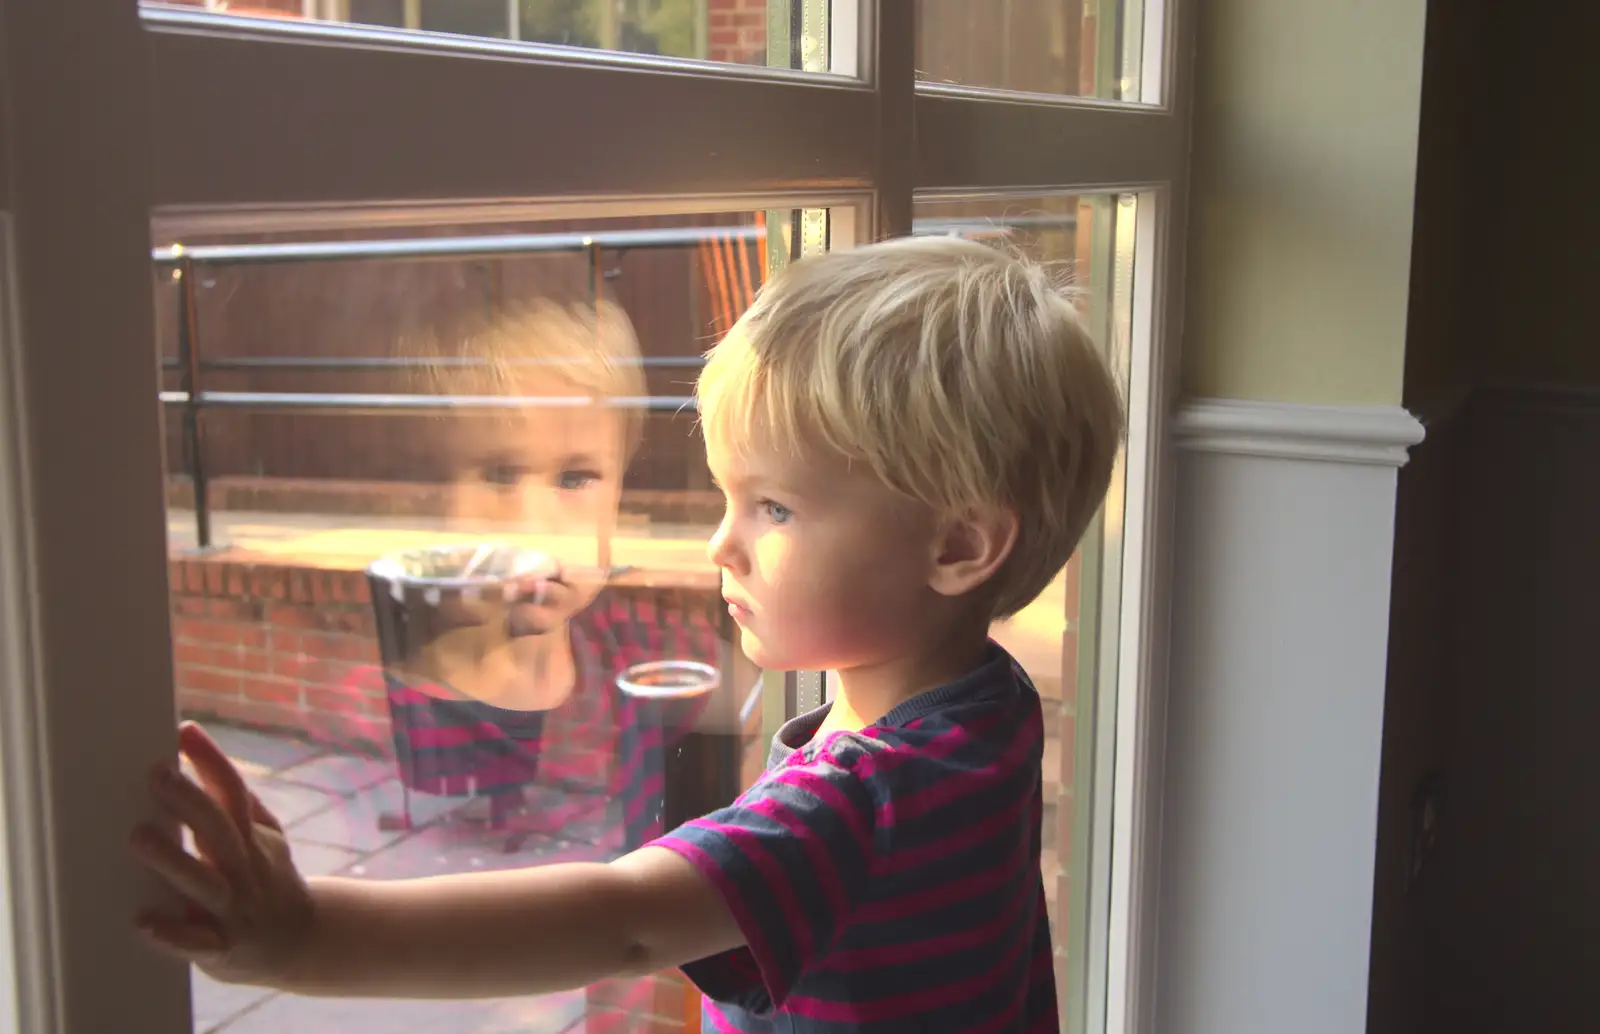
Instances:
[[[1392,405],[1195,399],[1179,407],[1173,437],[1187,451],[1398,467],[1422,424]]]

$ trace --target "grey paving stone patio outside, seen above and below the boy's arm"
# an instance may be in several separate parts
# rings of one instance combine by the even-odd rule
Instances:
[[[307,874],[405,879],[605,856],[597,840],[603,815],[507,850],[507,834],[467,818],[466,802],[413,796],[414,829],[379,829],[379,815],[400,808],[394,762],[222,725],[208,730],[283,821]],[[584,996],[352,1002],[234,988],[197,972],[194,1016],[195,1034],[582,1034]]]

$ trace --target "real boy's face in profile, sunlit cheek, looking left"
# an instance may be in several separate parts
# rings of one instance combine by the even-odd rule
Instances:
[[[770,669],[856,669],[922,647],[938,523],[843,459],[709,442],[726,499],[707,552],[744,653]]]

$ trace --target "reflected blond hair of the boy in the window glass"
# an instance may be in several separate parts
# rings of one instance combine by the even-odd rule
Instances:
[[[464,335],[456,355],[442,354],[437,341],[410,341],[402,352],[426,357],[422,376],[440,394],[517,395],[523,394],[518,383],[538,373],[595,402],[622,403],[624,456],[638,450],[645,371],[634,323],[614,303],[538,299]]]

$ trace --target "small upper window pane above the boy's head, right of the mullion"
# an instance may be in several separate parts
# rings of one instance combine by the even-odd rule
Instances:
[[[1144,0],[917,0],[917,78],[1139,101]]]

